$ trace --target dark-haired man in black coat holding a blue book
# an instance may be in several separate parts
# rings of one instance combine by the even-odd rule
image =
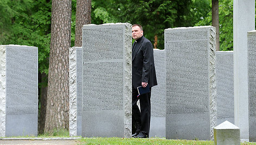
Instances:
[[[137,87],[157,85],[153,58],[153,47],[149,39],[143,36],[142,26],[132,25],[132,137],[149,137],[150,129],[150,93],[138,96]],[[139,100],[140,110],[137,106]]]

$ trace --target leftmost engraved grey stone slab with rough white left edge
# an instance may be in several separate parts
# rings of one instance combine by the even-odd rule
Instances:
[[[36,47],[0,45],[0,136],[37,136]]]

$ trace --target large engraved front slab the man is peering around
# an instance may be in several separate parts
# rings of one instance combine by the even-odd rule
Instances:
[[[82,33],[82,136],[131,137],[131,24]]]

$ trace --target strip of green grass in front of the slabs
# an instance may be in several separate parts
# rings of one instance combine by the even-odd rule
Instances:
[[[214,144],[213,141],[200,141],[200,140],[167,140],[159,138],[150,139],[126,139],[126,138],[82,138],[79,140],[81,144]],[[241,143],[246,144],[256,144],[256,143]]]

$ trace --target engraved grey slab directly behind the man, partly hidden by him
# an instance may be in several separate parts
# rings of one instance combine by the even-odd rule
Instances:
[[[151,90],[149,137],[165,137],[166,85],[165,50],[153,49],[158,85]]]

